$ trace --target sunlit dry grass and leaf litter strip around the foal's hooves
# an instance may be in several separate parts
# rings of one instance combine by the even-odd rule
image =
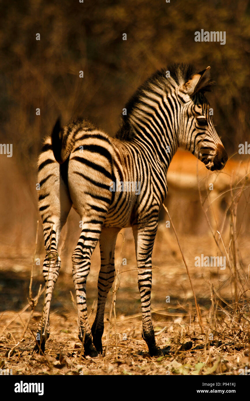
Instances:
[[[116,320],[117,351],[116,334],[112,327],[108,354],[105,355],[108,343],[108,330],[105,330],[105,357],[83,357],[80,364],[81,343],[77,340],[74,314],[51,314],[51,338],[46,344],[45,358],[31,355],[34,346],[32,332],[36,332],[41,314],[33,314],[28,332],[19,342],[24,322],[30,314],[24,312],[20,316],[16,312],[6,312],[1,319],[2,325],[6,326],[13,318],[16,320],[0,337],[0,365],[2,369],[12,369],[13,375],[238,375],[239,369],[249,367],[249,327],[246,322],[242,330],[239,329],[232,316],[232,308],[225,308],[222,303],[217,301],[213,308],[216,308],[215,322],[213,315],[201,308],[206,333],[212,331],[211,322],[215,323],[213,341],[206,334],[200,334],[194,319],[195,308],[184,305],[178,308],[178,312],[169,314],[166,312],[172,308],[167,308],[154,312],[153,317],[157,344],[171,348],[163,357],[150,358],[141,338],[140,316],[120,315]],[[242,316],[247,313],[246,304],[242,304],[241,312]],[[126,333],[127,340],[123,340],[123,333]]]

